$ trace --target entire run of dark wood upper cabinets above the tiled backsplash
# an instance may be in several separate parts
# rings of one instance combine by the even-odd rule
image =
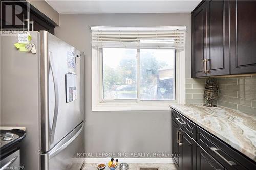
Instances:
[[[192,77],[255,73],[255,14],[256,1],[202,1],[192,12]]]

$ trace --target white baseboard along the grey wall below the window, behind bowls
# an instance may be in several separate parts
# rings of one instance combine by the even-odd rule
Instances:
[[[109,162],[111,158],[84,158],[86,163]],[[122,163],[173,163],[172,158],[118,158]]]

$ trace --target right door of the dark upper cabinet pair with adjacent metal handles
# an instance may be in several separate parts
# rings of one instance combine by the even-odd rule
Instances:
[[[230,74],[229,1],[207,3],[207,76]]]

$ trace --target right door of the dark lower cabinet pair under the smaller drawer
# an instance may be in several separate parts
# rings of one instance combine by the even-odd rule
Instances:
[[[196,170],[196,141],[181,129],[181,153],[183,170]]]

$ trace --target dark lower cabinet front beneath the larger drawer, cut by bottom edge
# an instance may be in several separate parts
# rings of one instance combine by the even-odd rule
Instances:
[[[205,169],[220,170],[225,168],[197,144],[197,170]]]

